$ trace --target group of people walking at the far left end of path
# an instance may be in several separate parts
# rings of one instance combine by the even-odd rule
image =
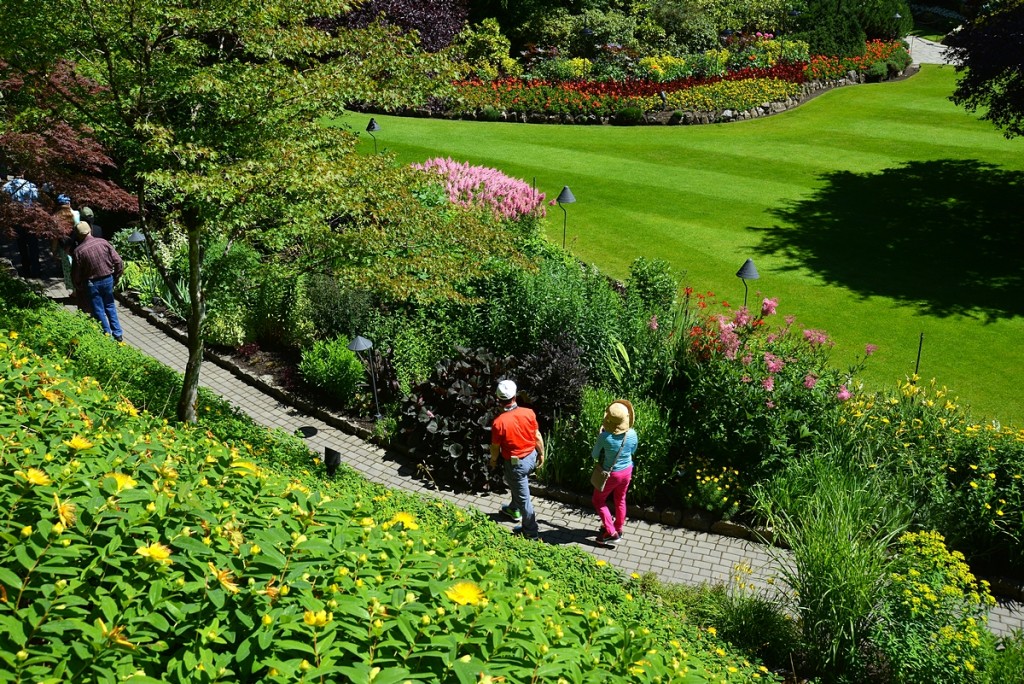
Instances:
[[[103,333],[123,341],[114,290],[124,272],[124,261],[103,239],[95,212],[89,207],[75,209],[70,196],[50,186],[39,187],[22,173],[7,176],[0,191],[23,207],[56,207],[53,219],[57,233],[49,241],[49,252],[59,264],[65,287],[75,304],[99,323]],[[22,276],[40,277],[43,267],[39,234],[27,225],[15,223],[13,227]]]

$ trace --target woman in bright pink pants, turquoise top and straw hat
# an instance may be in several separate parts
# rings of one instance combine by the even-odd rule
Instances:
[[[601,516],[597,541],[609,548],[618,544],[626,524],[626,491],[633,478],[633,454],[638,442],[633,423],[633,404],[626,399],[612,401],[604,410],[601,432],[591,452],[591,458],[599,462],[603,470],[611,472],[604,488],[595,488],[591,498],[594,510]]]

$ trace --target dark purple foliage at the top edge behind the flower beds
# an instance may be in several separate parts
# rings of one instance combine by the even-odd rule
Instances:
[[[315,24],[327,31],[365,29],[381,14],[386,25],[419,32],[423,49],[436,52],[451,45],[466,26],[469,9],[466,0],[368,0],[343,16]]]

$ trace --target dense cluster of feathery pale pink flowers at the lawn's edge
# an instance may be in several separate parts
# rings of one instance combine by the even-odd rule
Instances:
[[[449,199],[460,207],[488,207],[496,216],[511,221],[547,213],[544,193],[497,169],[472,166],[451,158],[429,159],[423,164],[413,164],[413,168],[442,176]]]

